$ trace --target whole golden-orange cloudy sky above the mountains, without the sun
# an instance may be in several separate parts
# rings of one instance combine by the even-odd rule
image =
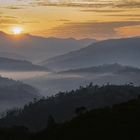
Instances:
[[[140,0],[0,0],[0,30],[45,37],[140,35]]]

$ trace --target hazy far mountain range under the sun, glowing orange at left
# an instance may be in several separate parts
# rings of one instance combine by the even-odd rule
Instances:
[[[46,58],[86,47],[95,41],[94,39],[44,38],[30,34],[14,36],[0,32],[0,52],[16,53],[31,61],[40,62]]]

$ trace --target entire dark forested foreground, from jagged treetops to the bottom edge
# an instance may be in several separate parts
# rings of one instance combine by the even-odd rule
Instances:
[[[87,102],[86,98],[90,97],[93,100],[97,94],[98,98],[101,96],[104,100],[109,100],[110,95],[112,99],[125,98],[125,100],[120,102],[114,100],[114,103],[97,106],[84,104]],[[23,109],[7,111],[6,116],[0,120],[0,139],[139,139],[139,94],[140,87],[135,87],[132,83],[122,86],[107,84],[102,87],[90,84],[75,91],[60,92],[54,97],[34,100]],[[81,104],[77,104],[76,107],[74,101],[79,101]],[[56,106],[59,107],[58,114],[63,114],[61,121],[58,119],[60,116],[57,118],[53,112],[52,114],[49,112],[49,108]],[[71,107],[75,107],[73,114],[65,118],[64,115],[67,113],[69,115],[69,111],[64,113],[64,110],[69,110]],[[46,115],[47,111],[49,115]],[[38,130],[35,129],[37,125]]]

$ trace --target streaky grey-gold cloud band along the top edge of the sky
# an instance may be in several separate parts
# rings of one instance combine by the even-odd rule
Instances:
[[[139,0],[34,0],[35,6],[140,8]]]

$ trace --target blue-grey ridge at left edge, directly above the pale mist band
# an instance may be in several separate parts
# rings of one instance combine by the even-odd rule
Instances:
[[[47,68],[34,65],[26,60],[0,57],[0,71],[46,71]]]

